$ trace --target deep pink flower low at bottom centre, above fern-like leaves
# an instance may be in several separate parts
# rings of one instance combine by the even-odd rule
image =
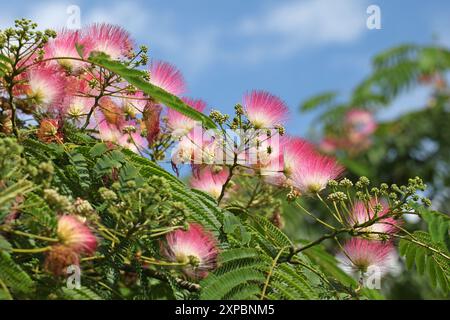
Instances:
[[[185,263],[183,272],[192,279],[202,279],[217,267],[217,240],[201,225],[191,223],[187,231],[176,230],[166,236],[162,253],[172,262]]]

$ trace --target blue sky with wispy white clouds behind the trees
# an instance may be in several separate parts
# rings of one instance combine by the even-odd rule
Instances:
[[[312,115],[299,103],[325,90],[344,95],[370,70],[370,58],[400,43],[450,45],[449,1],[228,0],[228,1],[2,1],[0,27],[28,17],[43,27],[66,24],[69,5],[81,22],[128,29],[152,58],[177,65],[189,95],[231,112],[242,94],[264,89],[291,109],[287,129],[304,135]],[[382,29],[366,27],[366,9],[381,8]],[[401,97],[393,111],[420,105],[425,91]]]

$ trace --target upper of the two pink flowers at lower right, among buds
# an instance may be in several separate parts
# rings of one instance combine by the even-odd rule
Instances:
[[[379,210],[379,211],[377,211]],[[353,210],[349,217],[349,223],[351,225],[363,224],[374,217],[383,217],[389,213],[389,206],[386,201],[377,201],[371,199],[368,203],[363,201],[355,202]],[[392,234],[398,231],[397,226],[400,224],[399,220],[395,220],[392,217],[386,217],[380,219],[378,222],[360,229],[362,232],[376,232],[376,234],[368,235],[374,239],[380,239],[382,235],[378,233]]]

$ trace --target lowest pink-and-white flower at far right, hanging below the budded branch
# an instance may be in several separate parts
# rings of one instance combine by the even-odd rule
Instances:
[[[352,238],[343,249],[336,258],[340,267],[350,275],[371,276],[377,273],[381,277],[396,268],[395,247],[390,242]]]

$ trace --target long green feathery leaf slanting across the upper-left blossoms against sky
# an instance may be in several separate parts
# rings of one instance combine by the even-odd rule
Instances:
[[[145,94],[149,95],[156,101],[163,103],[167,107],[172,108],[191,119],[202,122],[202,124],[208,129],[216,128],[216,125],[211,120],[211,118],[191,108],[177,96],[172,95],[164,89],[146,81],[143,77],[144,73],[142,71],[130,69],[122,63],[113,61],[107,55],[101,53],[91,55],[91,57],[89,57],[89,60],[105,69],[118,74],[130,84],[132,84],[139,90],[142,90]]]

